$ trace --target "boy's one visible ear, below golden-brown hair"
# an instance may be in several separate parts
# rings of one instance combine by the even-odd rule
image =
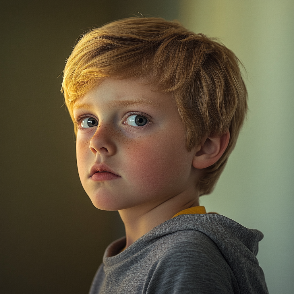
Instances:
[[[228,130],[222,136],[208,136],[203,138],[193,158],[192,165],[195,168],[207,168],[216,163],[225,152],[230,140],[230,131]]]

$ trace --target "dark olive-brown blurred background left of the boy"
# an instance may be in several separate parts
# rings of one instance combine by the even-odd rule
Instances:
[[[62,70],[86,29],[131,16],[178,18],[177,0],[1,4],[1,293],[87,293],[116,211],[83,191]]]

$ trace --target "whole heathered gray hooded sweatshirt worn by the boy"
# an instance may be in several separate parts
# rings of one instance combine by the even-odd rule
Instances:
[[[256,258],[262,238],[222,215],[179,215],[121,253],[125,237],[111,243],[90,294],[266,294]]]

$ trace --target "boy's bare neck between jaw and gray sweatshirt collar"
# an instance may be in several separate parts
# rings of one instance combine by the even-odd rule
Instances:
[[[126,248],[184,209],[199,206],[198,191],[185,190],[168,200],[119,210],[126,230]]]

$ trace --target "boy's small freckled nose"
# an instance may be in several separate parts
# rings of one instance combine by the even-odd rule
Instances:
[[[96,155],[97,152],[106,156],[116,153],[116,145],[113,140],[114,130],[103,122],[100,122],[95,134],[90,140],[90,150]]]

